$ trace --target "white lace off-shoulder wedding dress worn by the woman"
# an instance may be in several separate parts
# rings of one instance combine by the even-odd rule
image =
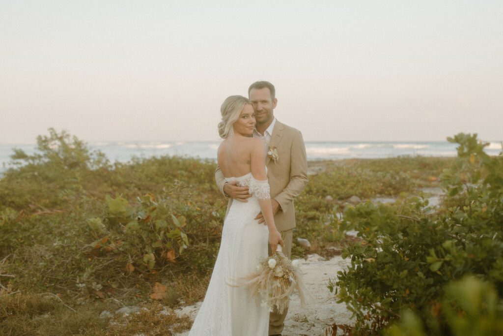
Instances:
[[[255,272],[268,254],[269,230],[255,217],[260,213],[259,199],[270,198],[269,183],[251,173],[226,180],[248,186],[252,196],[245,203],[232,202],[210,284],[189,336],[267,336],[269,309],[250,299],[244,288],[228,284]]]

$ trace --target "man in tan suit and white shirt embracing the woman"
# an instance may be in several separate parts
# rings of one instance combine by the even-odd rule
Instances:
[[[285,246],[283,253],[290,257],[292,252],[292,231],[295,228],[295,208],[293,199],[307,183],[307,159],[304,141],[299,130],[281,123],[274,117],[278,100],[274,85],[266,81],[255,82],[248,88],[248,97],[255,107],[257,120],[254,137],[264,139],[268,144],[266,158],[267,177],[271,187],[271,203],[274,222],[280,231]],[[217,167],[215,180],[224,195],[229,196],[230,208],[233,199],[246,201],[250,197],[248,187],[227,183]],[[257,216],[264,223],[262,213]],[[271,246],[269,246],[271,254]],[[281,335],[288,307],[279,314],[276,310],[269,317],[269,335]]]

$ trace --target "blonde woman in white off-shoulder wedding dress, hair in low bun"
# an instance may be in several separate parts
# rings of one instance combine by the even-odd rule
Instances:
[[[242,287],[231,287],[235,280],[256,271],[283,240],[274,224],[266,172],[266,147],[252,138],[255,110],[248,99],[230,96],[220,108],[218,124],[224,140],[217,152],[218,165],[225,179],[248,186],[251,197],[234,201],[225,218],[222,241],[204,302],[189,332],[190,336],[267,336],[269,309],[251,299]],[[264,214],[266,225],[255,219]]]

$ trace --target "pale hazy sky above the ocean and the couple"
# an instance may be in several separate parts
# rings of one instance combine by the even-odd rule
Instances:
[[[276,86],[306,141],[503,139],[503,1],[0,2],[0,143],[218,140]]]

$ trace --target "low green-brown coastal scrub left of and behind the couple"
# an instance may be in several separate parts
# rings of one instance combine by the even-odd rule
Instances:
[[[227,204],[214,182],[214,161],[110,162],[52,128],[37,137],[34,154],[14,149],[11,158],[0,177],[0,334],[121,334],[117,325],[141,332],[142,323],[160,323],[160,306],[169,310],[204,297]],[[376,196],[407,199],[400,195],[438,183],[451,162],[323,163],[295,200],[294,240],[308,239],[311,249],[294,243],[293,257],[330,256],[329,247],[355,240],[345,236],[342,214],[357,218],[360,208],[349,210],[348,197],[364,204]],[[139,317],[113,317],[119,324],[99,318],[127,305],[145,309]],[[172,324],[188,323],[186,316],[169,316]]]

